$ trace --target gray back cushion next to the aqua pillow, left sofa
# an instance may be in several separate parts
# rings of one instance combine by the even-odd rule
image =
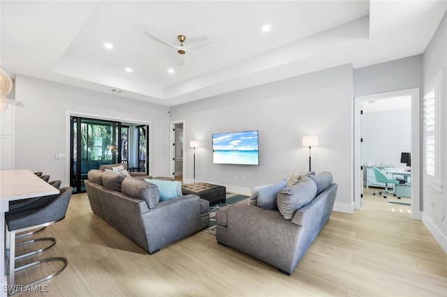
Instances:
[[[123,194],[146,201],[147,207],[155,208],[160,201],[159,188],[153,183],[127,176],[121,185]]]

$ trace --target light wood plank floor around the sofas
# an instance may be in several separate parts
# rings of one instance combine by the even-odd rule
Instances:
[[[409,206],[388,200],[365,195],[362,211],[333,212],[286,276],[203,231],[151,256],[73,195],[66,218],[40,234],[57,238],[43,256],[68,267],[41,284],[47,292],[16,296],[447,296],[447,254]]]

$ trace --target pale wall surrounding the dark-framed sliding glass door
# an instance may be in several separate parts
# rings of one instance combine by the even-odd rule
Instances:
[[[149,173],[168,174],[168,107],[22,75],[15,78],[15,100],[22,102],[15,109],[15,169],[44,172],[50,180],[69,184],[67,160],[56,160],[54,155],[69,151],[66,114],[71,111],[150,122],[151,149],[156,158],[149,164]]]

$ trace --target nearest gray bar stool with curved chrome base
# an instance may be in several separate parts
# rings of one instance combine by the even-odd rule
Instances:
[[[5,215],[6,227],[7,227],[7,242],[6,248],[9,249],[9,275],[8,275],[8,285],[11,287],[8,292],[9,295],[13,295],[18,292],[15,289],[15,272],[22,271],[24,269],[48,262],[48,261],[61,261],[63,265],[57,271],[54,271],[50,275],[46,275],[34,282],[30,282],[29,284],[21,285],[20,288],[28,289],[36,284],[40,284],[45,280],[50,280],[52,277],[58,275],[63,271],[67,264],[68,260],[64,257],[50,257],[46,259],[37,260],[28,264],[24,264],[19,267],[15,267],[15,260],[23,259],[25,257],[29,257],[33,254],[38,254],[39,252],[43,252],[51,248],[56,244],[55,238],[38,238],[30,241],[29,243],[33,243],[35,241],[40,240],[49,240],[53,241],[53,243],[41,250],[36,250],[34,252],[29,252],[27,254],[22,254],[20,256],[15,257],[15,248],[20,245],[29,244],[29,243],[19,243],[15,244],[15,234],[29,231],[31,229],[41,228],[49,226],[50,224],[54,224],[55,222],[59,222],[63,220],[66,215],[66,211],[68,208],[68,203],[70,202],[71,195],[73,193],[73,188],[66,187],[59,189],[59,195],[51,195],[44,196],[36,201],[31,202],[24,208],[19,208],[18,211],[8,211]]]

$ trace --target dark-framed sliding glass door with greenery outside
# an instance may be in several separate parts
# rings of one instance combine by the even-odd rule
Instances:
[[[129,172],[149,174],[149,126],[71,116],[70,185],[85,192],[91,169],[125,163]]]

